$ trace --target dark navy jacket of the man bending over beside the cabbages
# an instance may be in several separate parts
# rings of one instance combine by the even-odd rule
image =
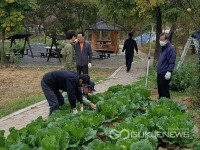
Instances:
[[[72,108],[76,107],[76,100],[82,103],[82,92],[79,85],[79,76],[75,72],[56,70],[44,75],[43,81],[53,91],[63,90],[67,92]]]

